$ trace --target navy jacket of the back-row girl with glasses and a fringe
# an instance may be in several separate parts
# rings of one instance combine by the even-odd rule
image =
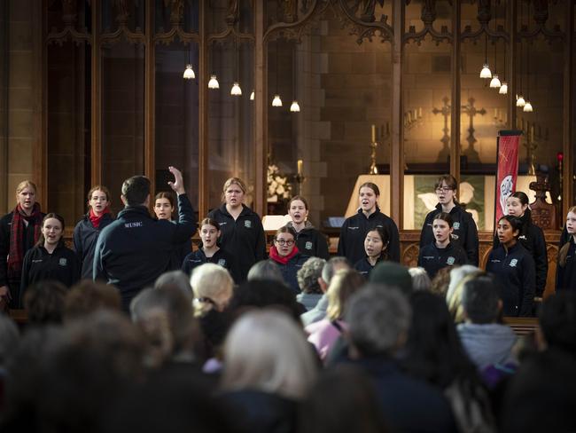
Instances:
[[[424,220],[422,232],[420,232],[420,248],[431,244],[435,241],[434,232],[432,232],[432,223],[434,216],[442,211],[442,205],[438,203],[436,209],[429,212]],[[478,266],[479,264],[479,240],[478,229],[471,214],[466,212],[460,205],[455,205],[450,210],[450,216],[454,223],[451,240],[460,245],[466,252],[468,257],[468,264]]]

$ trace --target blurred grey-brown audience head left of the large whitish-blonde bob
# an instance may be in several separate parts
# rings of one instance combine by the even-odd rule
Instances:
[[[159,366],[167,358],[193,358],[198,323],[190,298],[178,287],[144,289],[130,304],[130,312],[149,342],[149,365]]]

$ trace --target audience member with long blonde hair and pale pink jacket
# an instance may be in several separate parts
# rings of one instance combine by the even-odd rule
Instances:
[[[308,342],[314,344],[321,359],[327,358],[334,343],[346,332],[346,303],[364,283],[364,277],[354,269],[341,269],[331,279],[326,319],[306,327]]]

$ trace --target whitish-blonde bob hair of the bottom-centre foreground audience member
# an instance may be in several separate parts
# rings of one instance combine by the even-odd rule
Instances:
[[[316,364],[302,329],[284,312],[245,313],[224,343],[222,388],[256,389],[303,398]]]

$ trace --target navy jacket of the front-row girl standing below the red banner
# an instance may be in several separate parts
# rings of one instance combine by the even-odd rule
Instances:
[[[486,272],[494,273],[502,287],[505,316],[530,316],[536,287],[532,255],[517,242],[508,251],[501,245],[488,256]]]

